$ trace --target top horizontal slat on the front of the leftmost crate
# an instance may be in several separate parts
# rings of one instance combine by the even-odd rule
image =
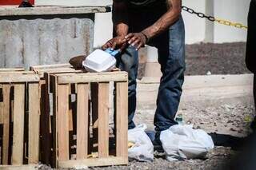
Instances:
[[[35,74],[4,74],[0,76],[0,82],[2,83],[18,83],[18,82],[38,82],[40,78]]]

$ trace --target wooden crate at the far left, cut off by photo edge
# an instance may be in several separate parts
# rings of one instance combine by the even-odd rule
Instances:
[[[9,70],[0,70],[1,164],[38,164],[40,79],[34,72]]]

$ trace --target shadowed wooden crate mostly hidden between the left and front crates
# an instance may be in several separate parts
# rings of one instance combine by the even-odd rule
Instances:
[[[41,91],[41,121],[43,125],[40,127],[41,132],[41,149],[40,157],[43,164],[53,164],[55,166],[56,162],[54,159],[53,150],[53,133],[52,133],[52,121],[53,117],[50,115],[52,102],[50,102],[50,95],[53,93],[52,81],[50,81],[50,75],[56,73],[82,73],[82,70],[76,70],[70,64],[55,64],[55,65],[34,65],[30,67],[31,71],[37,73],[40,77],[40,91]],[[70,86],[71,89],[71,86]],[[70,122],[72,120],[72,112],[70,111]],[[70,126],[70,131],[72,131],[72,126]]]

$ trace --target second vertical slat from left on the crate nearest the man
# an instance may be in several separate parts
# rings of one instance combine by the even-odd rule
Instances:
[[[78,84],[78,113],[77,113],[77,160],[87,158],[88,154],[88,84]]]

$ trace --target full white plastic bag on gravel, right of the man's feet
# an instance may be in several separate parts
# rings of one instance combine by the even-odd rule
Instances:
[[[214,148],[211,137],[193,125],[174,125],[160,134],[167,160],[203,158]]]

